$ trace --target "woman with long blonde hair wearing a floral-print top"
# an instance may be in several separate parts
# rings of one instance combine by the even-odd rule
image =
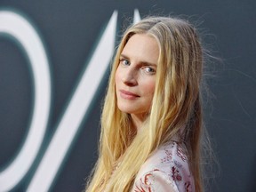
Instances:
[[[187,21],[140,20],[119,44],[86,191],[202,191],[202,48]]]

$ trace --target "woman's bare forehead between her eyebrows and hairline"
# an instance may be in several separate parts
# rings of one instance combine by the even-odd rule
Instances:
[[[121,54],[129,59],[157,63],[159,46],[155,37],[147,34],[135,34],[125,44]]]

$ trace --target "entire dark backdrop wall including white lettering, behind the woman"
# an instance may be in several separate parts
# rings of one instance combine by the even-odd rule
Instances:
[[[254,191],[256,3],[252,0],[0,1],[0,191],[81,191],[122,29],[148,14],[199,20],[212,63],[205,124],[212,191]],[[211,47],[210,47],[211,46]]]

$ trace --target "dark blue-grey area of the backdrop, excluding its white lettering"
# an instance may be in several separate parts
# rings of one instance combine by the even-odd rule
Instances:
[[[141,16],[172,13],[203,20],[200,28],[207,34],[206,44],[212,44],[212,54],[222,60],[212,64],[214,76],[208,83],[212,96],[205,108],[205,124],[220,164],[211,190],[255,191],[255,1],[0,0],[0,9],[5,8],[25,14],[34,23],[51,63],[52,112],[44,146],[51,140],[78,77],[114,10],[118,11],[119,29],[127,24],[125,18],[132,18],[135,8]],[[90,113],[84,116],[52,191],[84,188],[84,179],[97,158],[100,105],[107,79],[108,74],[92,102]],[[18,153],[28,132],[33,104],[32,82],[28,63],[19,47],[0,36],[0,171]],[[28,174],[13,191],[26,190],[45,148],[41,148]]]

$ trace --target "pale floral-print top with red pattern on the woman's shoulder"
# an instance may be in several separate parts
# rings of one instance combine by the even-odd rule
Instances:
[[[186,147],[177,141],[158,148],[138,172],[131,192],[194,192]]]

